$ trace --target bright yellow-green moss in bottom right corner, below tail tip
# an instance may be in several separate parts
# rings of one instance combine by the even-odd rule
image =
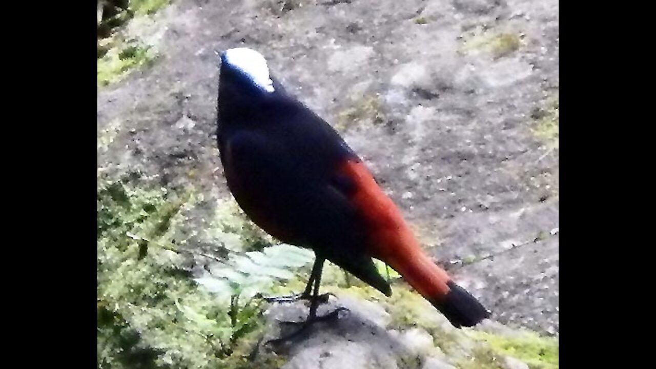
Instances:
[[[487,332],[471,332],[470,335],[485,341],[497,355],[518,358],[531,369],[558,369],[558,339],[541,337],[532,332],[522,332],[508,337]]]

